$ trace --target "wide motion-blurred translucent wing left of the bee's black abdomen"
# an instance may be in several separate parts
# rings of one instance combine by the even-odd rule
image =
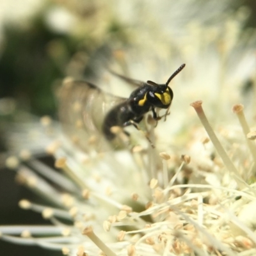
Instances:
[[[102,122],[109,109],[126,99],[100,90],[86,81],[65,79],[58,91],[59,116],[68,136],[85,152],[109,149]]]

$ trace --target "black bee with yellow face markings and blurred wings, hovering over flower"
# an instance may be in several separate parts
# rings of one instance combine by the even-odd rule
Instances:
[[[157,108],[166,109],[165,120],[173,100],[173,91],[168,84],[184,67],[185,64],[182,64],[165,84],[152,81],[144,83],[114,73],[120,79],[138,86],[127,99],[103,92],[86,81],[65,79],[58,93],[60,120],[66,132],[83,148],[88,148],[88,141],[92,138],[99,140],[101,133],[107,141],[113,141],[116,134],[111,128],[115,126],[124,128],[133,125],[140,130],[141,120],[150,111],[154,120],[160,120],[163,116],[157,115]],[[126,131],[125,134],[129,135]],[[82,141],[86,136],[87,140]]]

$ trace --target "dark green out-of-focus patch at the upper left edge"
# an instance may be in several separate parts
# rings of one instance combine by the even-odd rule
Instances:
[[[48,48],[51,40],[63,40],[68,48],[68,38],[54,35],[45,28],[40,17],[28,29],[6,26],[4,36],[0,97],[14,97],[24,104],[24,108],[30,107],[29,110],[38,115],[52,114],[54,99],[51,86],[54,79],[62,77],[63,73],[51,60]]]

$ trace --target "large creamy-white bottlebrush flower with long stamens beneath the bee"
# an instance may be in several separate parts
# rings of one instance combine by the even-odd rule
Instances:
[[[248,79],[255,83],[255,34],[241,31],[244,8],[221,14],[228,1],[205,3],[197,15],[198,1],[185,2],[141,2],[134,9],[135,1],[120,1],[113,7],[129,24],[134,45],[115,52],[113,70],[129,67],[136,79],[164,83],[186,63],[170,84],[171,115],[156,129],[148,125],[156,149],[145,140],[98,154],[93,140],[78,136],[72,143],[58,135],[47,152],[60,172],[26,151],[26,165],[7,159],[22,184],[56,207],[21,200],[20,207],[40,212],[52,225],[2,226],[1,239],[64,255],[255,255],[255,132],[237,104],[244,103],[253,124],[254,103],[240,92]],[[116,81],[102,73],[97,83],[116,92]],[[204,101],[204,110],[196,100]],[[49,119],[42,123],[51,134]],[[79,140],[86,152],[76,147]]]

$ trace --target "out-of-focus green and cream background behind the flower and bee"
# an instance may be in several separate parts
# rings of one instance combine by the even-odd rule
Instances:
[[[223,13],[236,13],[241,6],[248,10],[241,29],[256,27],[256,2],[253,0],[224,1],[216,12],[209,6],[205,9],[204,1],[191,1],[193,8],[185,2],[181,1],[183,4],[177,6],[175,1],[170,1],[178,11],[177,17],[173,12],[170,14],[173,16],[171,20],[176,19],[174,24],[170,22],[175,28],[173,37],[179,38],[184,33],[179,24],[189,24],[189,20],[197,15],[205,24],[219,23]],[[216,6],[220,3],[213,2]],[[5,122],[13,120],[13,113],[17,118],[24,112],[56,118],[54,88],[63,77],[86,77],[97,81],[102,68],[108,67],[113,60],[124,72],[127,71],[129,67],[122,59],[122,52],[127,49],[136,52],[136,45],[155,42],[152,51],[161,50],[161,38],[154,37],[159,26],[154,26],[159,13],[164,12],[163,16],[168,17],[169,9],[164,3],[157,1],[155,8],[149,9],[147,1],[116,4],[115,1],[0,0],[0,225],[42,223],[40,214],[17,206],[20,199],[33,200],[35,195],[17,186],[15,172],[4,168],[4,158],[8,154],[4,140]],[[171,10],[172,5],[169,7]],[[144,21],[147,23],[145,27]],[[161,22],[166,21],[160,20],[158,24]],[[152,42],[145,40],[145,33],[150,34],[148,38],[151,37]],[[145,56],[145,60],[147,58],[150,57]],[[250,88],[252,83],[248,80],[246,86]],[[49,158],[42,157],[42,160],[53,165]],[[61,255],[0,240],[0,253],[3,252],[8,255]]]

